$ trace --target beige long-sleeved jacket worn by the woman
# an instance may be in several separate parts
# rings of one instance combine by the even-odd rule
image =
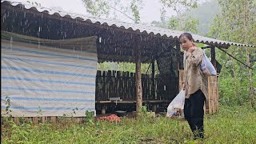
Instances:
[[[184,51],[184,78],[182,83],[185,84],[185,98],[190,98],[190,94],[194,94],[197,90],[202,90],[206,99],[208,98],[208,79],[200,70],[202,56],[202,49],[198,47],[196,47],[193,53]]]

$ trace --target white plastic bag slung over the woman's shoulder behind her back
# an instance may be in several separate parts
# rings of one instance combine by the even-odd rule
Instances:
[[[207,58],[204,51],[203,51],[202,63],[201,63],[200,68],[202,70],[202,74],[205,74],[206,76],[216,76],[217,75],[217,72],[216,72],[213,64],[210,62],[209,58]]]

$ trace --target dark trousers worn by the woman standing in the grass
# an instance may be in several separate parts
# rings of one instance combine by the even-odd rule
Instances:
[[[187,122],[190,125],[190,129],[194,134],[194,139],[204,137],[203,130],[203,105],[206,98],[202,93],[202,90],[196,91],[190,95],[190,98],[185,98],[184,114]]]

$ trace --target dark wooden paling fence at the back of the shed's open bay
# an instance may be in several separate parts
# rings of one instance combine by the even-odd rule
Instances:
[[[172,78],[172,81],[178,78]],[[177,85],[170,82],[166,85],[159,75],[151,78],[150,74],[142,74],[142,99],[143,100],[172,100],[169,87]],[[169,95],[169,96],[168,96]],[[123,71],[99,71],[96,76],[96,101],[108,100],[111,97],[120,97],[124,101],[134,101],[135,98],[135,73]]]

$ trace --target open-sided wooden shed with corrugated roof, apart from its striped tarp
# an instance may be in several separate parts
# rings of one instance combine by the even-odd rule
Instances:
[[[106,107],[113,104],[131,104],[131,107],[134,106],[134,109],[136,107],[138,110],[142,103],[145,103],[151,106],[152,110],[161,109],[162,106],[165,109],[164,106],[178,94],[182,80],[182,52],[178,36],[182,31],[70,14],[12,0],[1,1],[1,31],[1,43],[15,41],[15,38],[19,39],[19,42],[27,42],[28,38],[32,38],[31,42],[40,46],[51,44],[66,50],[86,51],[84,45],[95,42],[98,62],[136,63],[135,74],[121,71],[95,72],[95,109],[102,110],[103,113]],[[6,34],[9,34],[9,37],[6,37]],[[95,41],[88,40],[92,37],[96,38]],[[222,49],[231,45],[249,46],[196,34],[193,34],[193,37],[195,42],[210,46],[211,62],[215,67],[215,46]],[[61,42],[77,38],[84,38],[84,42]],[[160,74],[154,74],[154,65],[151,67],[152,74],[141,74],[141,63],[154,62],[158,63]],[[206,112],[212,114],[218,110],[217,77],[209,78],[208,90]],[[10,100],[13,96],[9,95]],[[2,98],[2,103],[5,102],[5,98]]]

